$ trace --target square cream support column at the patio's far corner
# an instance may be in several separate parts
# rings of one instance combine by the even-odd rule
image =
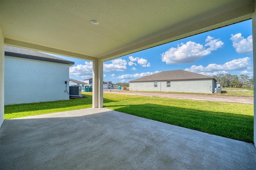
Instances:
[[[103,107],[103,62],[98,59],[92,64],[92,107]]]

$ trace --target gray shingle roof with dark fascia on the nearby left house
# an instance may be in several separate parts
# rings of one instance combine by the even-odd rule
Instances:
[[[69,66],[74,65],[73,61],[68,61],[66,59],[62,59],[62,58],[41,53],[38,51],[32,51],[29,49],[22,49],[17,47],[10,47],[10,46],[4,47],[4,55],[12,56],[12,57],[28,58],[28,59],[37,59],[42,61],[51,61],[56,63],[64,63],[64,64],[69,64]]]

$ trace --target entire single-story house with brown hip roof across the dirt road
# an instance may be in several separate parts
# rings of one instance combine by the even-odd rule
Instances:
[[[216,79],[184,70],[162,71],[129,82],[130,91],[214,93]]]

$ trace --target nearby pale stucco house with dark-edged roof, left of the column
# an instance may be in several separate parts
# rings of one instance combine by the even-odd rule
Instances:
[[[4,51],[4,105],[69,99],[73,61],[16,47]]]

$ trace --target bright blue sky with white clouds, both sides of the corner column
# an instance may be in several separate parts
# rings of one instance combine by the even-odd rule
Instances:
[[[75,62],[70,78],[82,81],[92,77],[92,62],[54,56]],[[106,61],[104,81],[124,83],[176,69],[208,76],[230,73],[251,77],[252,64],[252,21],[247,20]]]

